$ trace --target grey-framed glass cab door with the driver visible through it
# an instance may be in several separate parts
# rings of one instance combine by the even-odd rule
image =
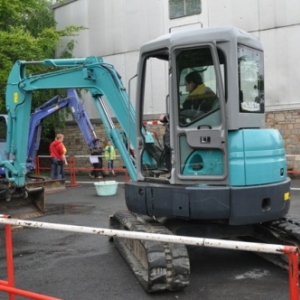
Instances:
[[[173,181],[226,183],[225,56],[215,44],[205,44],[177,49],[173,59]]]

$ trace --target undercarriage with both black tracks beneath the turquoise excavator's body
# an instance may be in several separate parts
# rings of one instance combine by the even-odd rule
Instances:
[[[110,228],[300,246],[300,219],[291,216],[268,223],[233,226],[219,221],[154,220],[129,211],[119,211],[110,217]],[[117,237],[113,241],[147,292],[182,290],[189,284],[190,263],[185,245]],[[285,255],[257,254],[283,269],[288,269]]]

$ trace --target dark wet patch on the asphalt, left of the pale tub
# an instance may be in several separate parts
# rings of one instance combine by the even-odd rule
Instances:
[[[58,214],[83,214],[95,209],[95,206],[84,204],[46,204],[45,216]]]

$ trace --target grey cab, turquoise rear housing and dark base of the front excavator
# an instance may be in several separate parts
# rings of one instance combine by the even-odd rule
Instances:
[[[259,39],[234,27],[174,32],[142,46],[138,183],[125,186],[130,211],[230,224],[267,222],[287,213],[284,142],[278,130],[264,128],[263,65]],[[142,163],[149,112],[169,119],[169,178],[157,178]]]

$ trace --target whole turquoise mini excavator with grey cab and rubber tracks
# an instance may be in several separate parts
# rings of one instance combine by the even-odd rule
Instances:
[[[30,64],[55,70],[27,75]],[[201,78],[198,93],[189,91],[190,73]],[[165,89],[150,89],[158,82]],[[298,246],[299,222],[287,215],[284,141],[264,124],[264,53],[257,37],[235,27],[215,27],[149,41],[140,49],[135,109],[119,74],[100,57],[17,61],[6,89],[8,157],[0,165],[9,170],[6,180],[19,189],[26,189],[26,151],[21,149],[28,143],[32,93],[52,88],[89,91],[128,169],[128,210],[110,217],[111,228]],[[134,147],[134,163],[103,114],[105,101],[126,132],[127,145]],[[166,151],[154,158],[144,126],[147,113],[163,102],[170,135],[168,176],[161,163]],[[184,245],[113,241],[146,291],[181,290],[189,284]]]

